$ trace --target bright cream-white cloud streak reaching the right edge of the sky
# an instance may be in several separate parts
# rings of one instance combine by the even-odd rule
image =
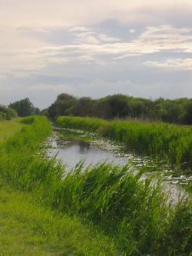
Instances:
[[[89,55],[93,59],[96,59],[97,55],[120,59],[164,51],[192,53],[191,32],[191,28],[173,28],[170,25],[148,27],[145,32],[129,42],[100,42],[100,34],[91,31],[81,32],[77,34],[78,44],[45,48],[42,52],[65,55],[69,59],[73,56],[77,60],[79,55]]]

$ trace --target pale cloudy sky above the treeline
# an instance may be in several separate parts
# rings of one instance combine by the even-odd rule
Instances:
[[[192,0],[0,0],[0,104],[192,98]]]

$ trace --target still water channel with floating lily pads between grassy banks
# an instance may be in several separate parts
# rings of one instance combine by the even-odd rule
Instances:
[[[74,169],[80,161],[84,162],[85,168],[104,161],[111,165],[129,164],[135,171],[146,167],[149,171],[145,176],[158,173],[164,181],[164,190],[170,193],[170,200],[174,202],[179,195],[185,194],[184,185],[192,180],[192,176],[175,175],[175,171],[167,165],[157,166],[147,157],[127,153],[124,145],[85,131],[54,128],[48,145],[48,156],[56,155],[68,171]]]

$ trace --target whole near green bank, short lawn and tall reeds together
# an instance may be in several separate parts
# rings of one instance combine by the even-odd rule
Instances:
[[[161,181],[154,188],[129,166],[80,164],[65,173],[41,146],[48,119],[22,123],[0,147],[3,255],[191,255],[190,201],[167,204]]]

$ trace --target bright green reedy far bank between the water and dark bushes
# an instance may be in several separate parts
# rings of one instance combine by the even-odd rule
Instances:
[[[168,163],[192,168],[192,128],[141,121],[104,121],[97,118],[60,117],[61,128],[94,131],[122,141],[138,154],[161,156]]]

